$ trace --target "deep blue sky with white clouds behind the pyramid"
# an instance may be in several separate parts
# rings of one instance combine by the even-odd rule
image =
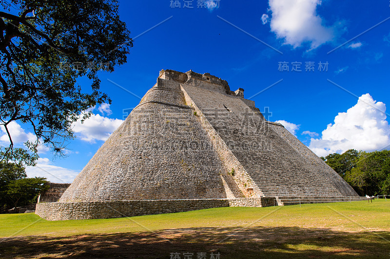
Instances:
[[[28,168],[29,176],[71,182],[161,69],[216,75],[233,91],[243,88],[246,98],[283,79],[252,100],[260,111],[269,107],[269,120],[284,124],[318,155],[390,144],[383,112],[390,104],[389,1],[208,1],[211,8],[189,1],[192,9],[184,8],[184,0],[178,0],[180,8],[172,8],[171,0],[119,1],[120,19],[133,37],[167,20],[135,39],[127,64],[100,74],[101,90],[113,102],[96,107],[97,115],[77,126],[69,156],[52,160],[42,150],[39,168]],[[289,72],[279,71],[279,62],[288,62]],[[302,72],[292,71],[292,62],[301,63]],[[314,71],[305,71],[306,62],[314,62]],[[319,62],[328,70],[318,71]],[[86,79],[79,82],[88,88]],[[29,129],[15,126],[15,134],[28,138]]]

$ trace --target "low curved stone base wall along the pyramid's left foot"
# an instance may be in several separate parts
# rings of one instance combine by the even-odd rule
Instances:
[[[133,217],[216,207],[273,206],[274,198],[137,200],[116,202],[38,203],[35,213],[49,221]]]

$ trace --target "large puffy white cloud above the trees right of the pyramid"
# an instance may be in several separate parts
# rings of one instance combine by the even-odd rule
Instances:
[[[309,148],[319,156],[342,153],[348,149],[373,151],[390,144],[390,126],[386,105],[376,102],[369,93],[359,97],[357,104],[340,112],[322,131],[322,137],[311,139]]]

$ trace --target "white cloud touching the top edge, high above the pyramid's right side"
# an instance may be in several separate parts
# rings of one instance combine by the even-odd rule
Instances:
[[[271,31],[294,48],[310,42],[311,49],[333,40],[334,28],[323,25],[316,14],[321,0],[269,0]]]

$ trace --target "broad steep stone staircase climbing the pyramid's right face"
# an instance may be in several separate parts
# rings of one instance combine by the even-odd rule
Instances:
[[[286,137],[273,129],[274,125],[270,126],[261,113],[249,108],[242,98],[196,85],[196,82],[183,84],[185,96],[191,98],[195,109],[202,111],[215,130],[213,134],[226,144],[225,150],[217,150],[229,170],[233,168],[237,172],[235,180],[247,197],[343,195],[339,186],[329,181],[329,178],[337,181],[338,175],[334,171],[331,176],[327,174],[328,178],[324,177],[324,173],[308,163],[307,158],[286,141]],[[229,152],[233,155],[226,156]]]

